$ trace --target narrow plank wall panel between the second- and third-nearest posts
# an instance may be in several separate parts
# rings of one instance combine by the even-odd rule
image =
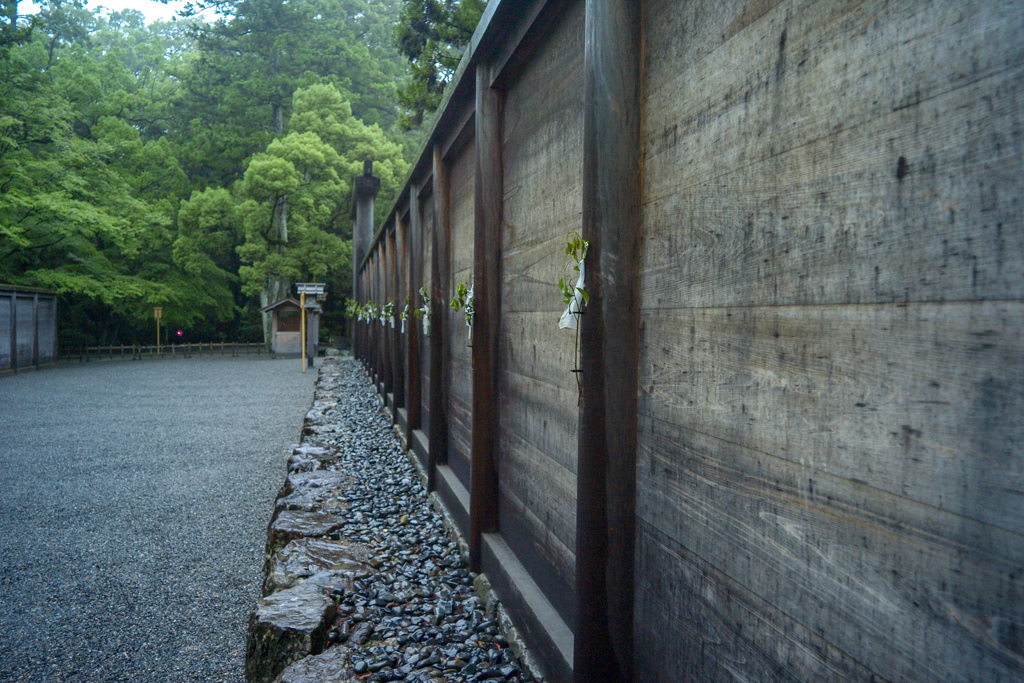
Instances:
[[[449,307],[459,284],[469,285],[473,276],[473,193],[476,150],[472,141],[453,151],[450,166],[452,174],[452,227],[449,240],[451,274],[449,289],[443,297],[444,316],[435,321],[446,327],[450,343],[446,345],[447,396],[447,465],[468,489],[470,480],[470,443],[473,431],[473,359],[471,357],[466,318],[462,312]]]

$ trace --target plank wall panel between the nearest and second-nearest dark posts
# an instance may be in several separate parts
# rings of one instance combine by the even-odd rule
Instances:
[[[509,85],[505,100],[499,519],[562,617],[574,613],[575,334],[559,330],[556,284],[579,231],[584,3]],[[558,81],[559,88],[548,85]]]

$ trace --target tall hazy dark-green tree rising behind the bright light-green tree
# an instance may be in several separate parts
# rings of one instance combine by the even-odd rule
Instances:
[[[288,130],[296,88],[332,83],[355,117],[393,126],[403,62],[389,41],[397,0],[240,0],[196,27],[173,132],[201,185],[227,186]],[[197,6],[195,9],[199,9]]]

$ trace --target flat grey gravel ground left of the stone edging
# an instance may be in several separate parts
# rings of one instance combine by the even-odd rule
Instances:
[[[242,681],[315,377],[191,358],[0,378],[0,681]]]

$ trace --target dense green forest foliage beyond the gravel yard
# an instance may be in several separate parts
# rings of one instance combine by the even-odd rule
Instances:
[[[60,293],[65,349],[152,343],[154,306],[186,341],[260,340],[301,281],[343,310],[352,178],[374,160],[387,209],[474,2],[218,0],[146,25],[0,0],[0,283]]]

